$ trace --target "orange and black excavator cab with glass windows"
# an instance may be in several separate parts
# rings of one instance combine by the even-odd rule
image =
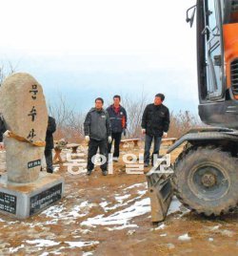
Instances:
[[[199,116],[238,129],[238,1],[198,0]]]

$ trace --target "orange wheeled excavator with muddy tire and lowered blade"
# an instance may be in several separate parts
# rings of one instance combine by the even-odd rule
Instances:
[[[198,110],[208,126],[169,147],[167,154],[184,145],[168,172],[157,166],[147,174],[153,223],[165,220],[173,195],[206,216],[238,203],[238,0],[197,0],[187,11],[190,26],[195,14]]]

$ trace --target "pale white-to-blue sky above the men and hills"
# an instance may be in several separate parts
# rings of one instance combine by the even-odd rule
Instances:
[[[96,96],[197,110],[194,0],[8,0],[1,2],[0,62],[33,75],[48,101],[61,92],[79,111]]]

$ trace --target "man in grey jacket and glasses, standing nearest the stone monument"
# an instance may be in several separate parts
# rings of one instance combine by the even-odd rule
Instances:
[[[99,152],[106,157],[106,162],[101,165],[103,175],[108,174],[108,142],[111,141],[109,114],[103,109],[104,100],[95,99],[95,108],[91,108],[84,122],[85,139],[89,141],[87,174],[90,175],[94,162],[91,159]]]

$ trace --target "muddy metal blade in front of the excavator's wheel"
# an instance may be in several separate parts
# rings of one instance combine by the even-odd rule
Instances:
[[[149,171],[146,177],[151,205],[151,221],[154,224],[163,222],[173,195],[171,174]]]

